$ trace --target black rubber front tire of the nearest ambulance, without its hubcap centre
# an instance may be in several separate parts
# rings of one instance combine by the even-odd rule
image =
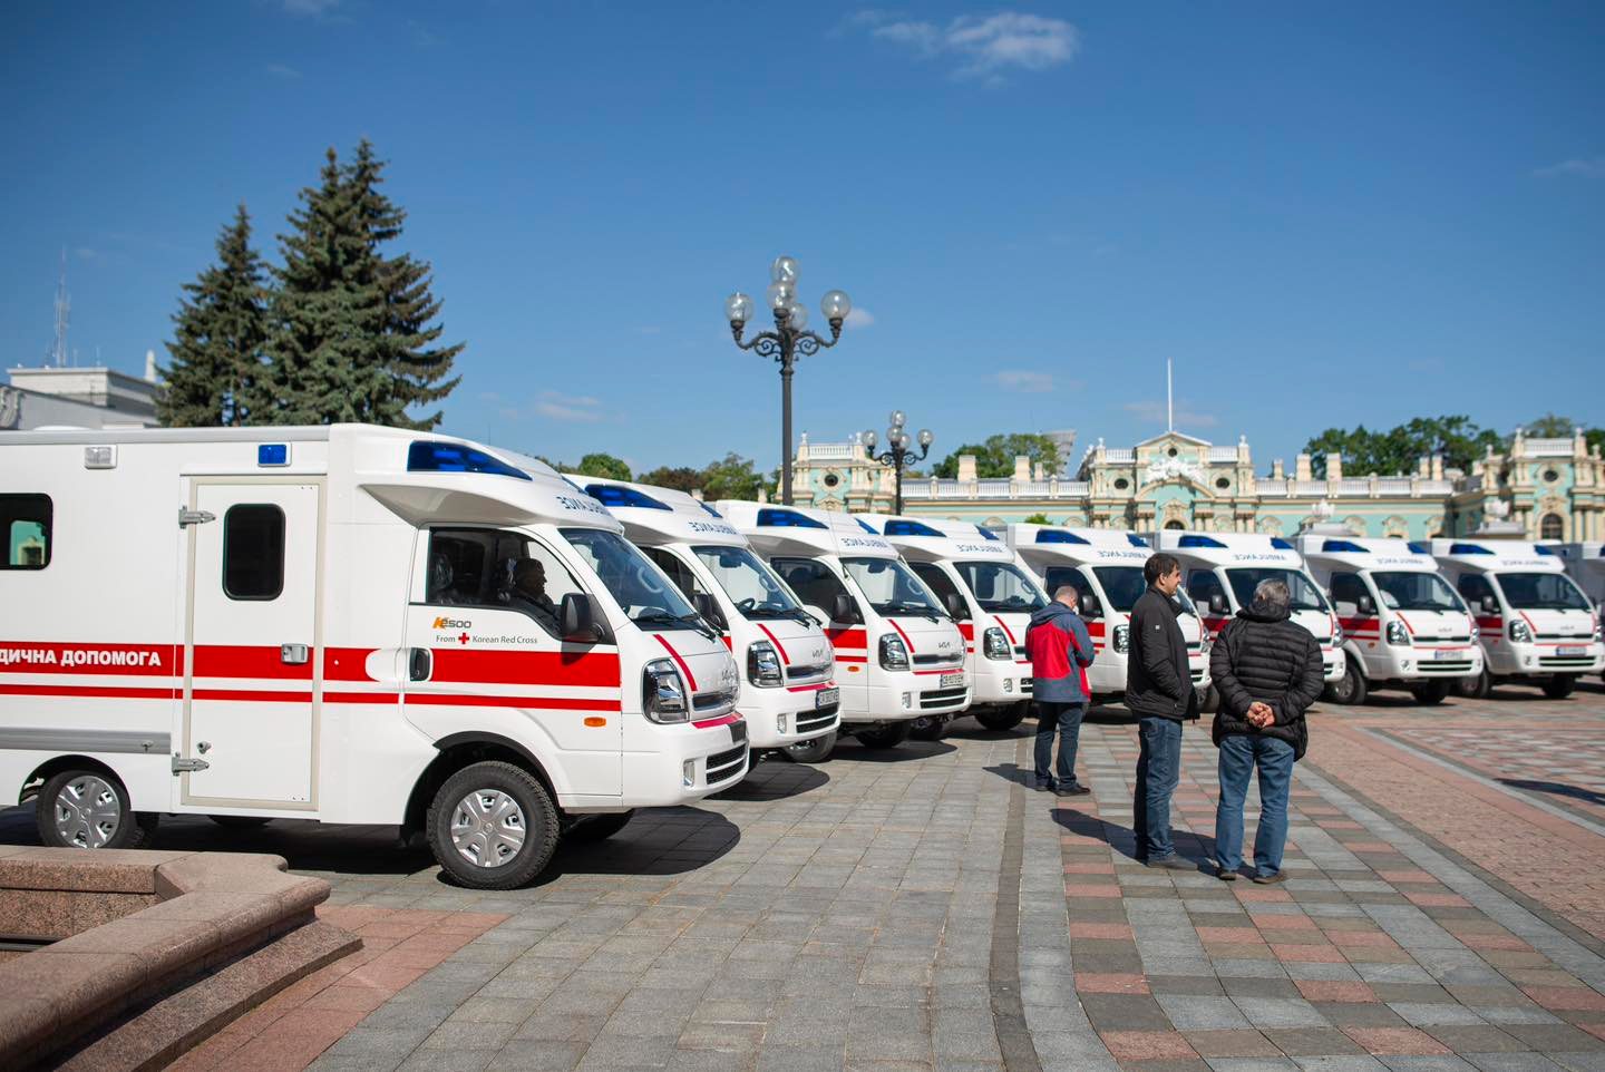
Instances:
[[[457,851],[453,823],[457,806],[475,793],[502,793],[522,814],[523,843],[494,867],[483,867]],[[446,778],[429,804],[429,847],[441,870],[470,889],[517,889],[546,870],[557,849],[557,809],[533,774],[510,762],[486,761]]]

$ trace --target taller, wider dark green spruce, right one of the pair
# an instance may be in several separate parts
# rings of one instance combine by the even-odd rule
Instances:
[[[366,140],[348,165],[329,149],[319,185],[302,189],[291,233],[279,236],[284,266],[268,342],[274,404],[262,422],[440,424],[440,411],[408,411],[457,385],[448,376],[462,343],[432,348],[443,329],[430,326],[440,302],[429,265],[382,252],[406,220],[380,193],[382,172]]]

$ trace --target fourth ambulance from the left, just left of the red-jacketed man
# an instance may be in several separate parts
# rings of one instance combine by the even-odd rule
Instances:
[[[969,714],[989,730],[1019,725],[1030,706],[1026,626],[1048,605],[1037,579],[997,533],[976,525],[884,514],[854,517],[884,536],[945,607],[958,608],[974,693]],[[915,735],[941,737],[947,717],[933,716],[929,733],[916,724]]]

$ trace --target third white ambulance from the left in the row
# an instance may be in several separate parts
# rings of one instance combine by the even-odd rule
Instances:
[[[841,733],[891,748],[908,740],[915,719],[969,706],[965,637],[950,608],[880,533],[833,510],[727,499],[714,509],[825,624]]]

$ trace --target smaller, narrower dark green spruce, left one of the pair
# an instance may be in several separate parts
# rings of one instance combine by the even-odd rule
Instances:
[[[173,315],[172,364],[162,369],[156,416],[170,427],[242,425],[255,416],[268,339],[262,257],[241,204],[217,239],[217,265],[185,284]]]

